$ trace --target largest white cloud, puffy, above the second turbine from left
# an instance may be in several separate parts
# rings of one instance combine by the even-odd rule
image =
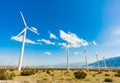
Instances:
[[[76,34],[74,33],[65,33],[63,30],[60,30],[60,37],[69,43],[70,47],[81,47],[81,46],[87,46],[88,42],[86,40],[80,39]]]

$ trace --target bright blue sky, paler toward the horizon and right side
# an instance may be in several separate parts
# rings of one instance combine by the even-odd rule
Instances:
[[[88,43],[89,62],[96,61],[96,51],[99,59],[119,56],[119,4],[119,0],[0,1],[0,64],[18,64],[22,43],[12,37],[24,29],[20,11],[27,25],[40,34],[27,31],[27,38],[35,44],[26,43],[23,65],[66,63],[62,46],[66,42],[71,44],[70,62],[84,62],[82,40]]]

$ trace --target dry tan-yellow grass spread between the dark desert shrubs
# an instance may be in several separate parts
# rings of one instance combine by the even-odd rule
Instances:
[[[102,71],[98,73],[97,71],[87,72],[87,77],[82,80],[78,80],[74,77],[74,72],[77,70],[71,70],[69,73],[66,70],[41,70],[38,69],[34,75],[30,76],[21,76],[20,72],[17,70],[9,71],[14,72],[16,77],[13,80],[4,80],[0,83],[107,83],[104,82],[105,78],[111,78],[112,82],[110,83],[120,83],[120,77],[115,77],[117,71],[113,72],[112,70],[105,72]],[[108,75],[109,74],[109,75]]]

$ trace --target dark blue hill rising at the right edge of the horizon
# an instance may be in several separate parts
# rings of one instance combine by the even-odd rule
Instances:
[[[108,58],[105,60],[107,67],[120,67],[120,56],[119,57],[113,57],[113,58]],[[100,60],[99,61],[100,67],[104,67],[104,61]],[[90,67],[97,67],[97,62],[89,64]]]

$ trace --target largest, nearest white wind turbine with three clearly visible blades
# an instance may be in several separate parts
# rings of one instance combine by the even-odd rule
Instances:
[[[30,30],[30,31],[32,31],[32,32],[34,32],[34,33],[36,33],[36,34],[39,35],[39,33],[37,32],[37,30],[32,29],[32,28],[29,28],[29,27],[27,26],[26,21],[25,21],[24,16],[23,16],[23,14],[22,14],[21,11],[20,11],[20,14],[21,14],[21,17],[22,17],[22,20],[23,20],[23,23],[24,23],[25,28],[16,36],[16,38],[17,38],[17,37],[19,37],[22,33],[24,34],[23,39],[22,39],[22,48],[21,48],[21,52],[20,52],[20,58],[19,58],[19,64],[18,64],[18,71],[21,71],[21,66],[22,66],[22,60],[23,60],[23,54],[24,54],[24,47],[25,47],[25,40],[26,40],[26,32],[27,32],[27,30]]]

